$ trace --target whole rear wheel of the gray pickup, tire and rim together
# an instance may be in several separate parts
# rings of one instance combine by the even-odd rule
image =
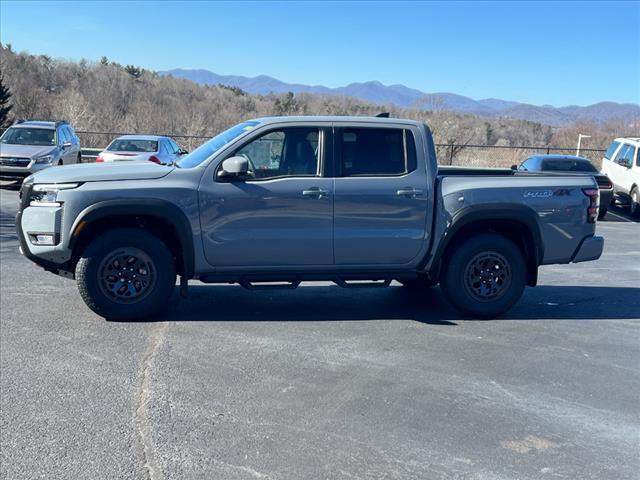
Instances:
[[[522,251],[511,240],[481,234],[453,248],[445,261],[440,288],[458,310],[493,318],[520,299],[527,270]]]

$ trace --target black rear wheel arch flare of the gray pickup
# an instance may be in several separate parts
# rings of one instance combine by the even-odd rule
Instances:
[[[520,248],[527,265],[527,285],[535,286],[538,266],[544,258],[544,243],[537,214],[524,205],[483,205],[456,214],[437,247],[429,276],[440,277],[442,266],[456,245],[475,234],[488,232],[502,235]]]

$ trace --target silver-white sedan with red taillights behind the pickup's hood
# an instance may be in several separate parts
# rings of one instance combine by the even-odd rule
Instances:
[[[96,162],[149,161],[171,165],[186,153],[187,151],[170,137],[123,135],[100,152]]]

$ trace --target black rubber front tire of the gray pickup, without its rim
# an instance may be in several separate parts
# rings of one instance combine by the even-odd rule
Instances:
[[[128,251],[142,252],[153,273],[153,284],[140,300],[134,296],[132,300],[120,299],[130,303],[120,303],[105,293],[104,262]],[[97,236],[87,246],[76,264],[75,277],[80,296],[98,315],[109,320],[141,320],[166,307],[175,287],[176,268],[171,252],[158,237],[141,229],[119,228]]]

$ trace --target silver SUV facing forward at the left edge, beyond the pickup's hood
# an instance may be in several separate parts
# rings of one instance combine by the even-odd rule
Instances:
[[[0,179],[23,180],[52,165],[81,163],[80,139],[59,121],[20,120],[0,137]]]

